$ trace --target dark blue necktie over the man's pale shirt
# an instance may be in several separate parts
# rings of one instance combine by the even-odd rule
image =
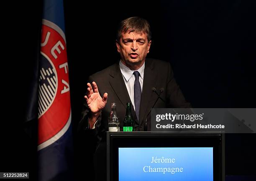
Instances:
[[[139,120],[140,117],[140,105],[141,105],[141,84],[139,81],[140,73],[138,71],[134,71],[135,82],[134,82],[134,104],[135,104],[135,112],[136,116]]]

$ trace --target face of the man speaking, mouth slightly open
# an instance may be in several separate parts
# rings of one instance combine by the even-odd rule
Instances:
[[[140,67],[149,52],[151,41],[142,32],[122,33],[119,42],[116,42],[122,62],[129,68]]]

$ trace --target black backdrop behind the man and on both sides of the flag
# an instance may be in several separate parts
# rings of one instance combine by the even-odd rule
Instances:
[[[5,75],[10,96],[3,103],[9,111],[3,113],[8,129],[1,132],[5,145],[1,171],[36,175],[36,133],[31,131],[36,121],[24,123],[23,117],[38,56],[41,6],[42,0],[19,2],[11,6],[16,16],[7,15],[8,35],[3,37],[10,53],[4,60],[13,68]],[[120,20],[131,16],[149,21],[152,45],[148,57],[171,63],[174,77],[193,107],[255,108],[255,9],[253,0],[64,0],[74,140],[87,78],[119,60],[116,28]],[[225,137],[226,175],[256,174],[256,134]]]

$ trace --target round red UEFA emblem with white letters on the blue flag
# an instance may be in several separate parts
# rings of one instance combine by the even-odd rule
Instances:
[[[40,53],[38,150],[57,141],[71,123],[66,39],[48,20],[42,22]]]

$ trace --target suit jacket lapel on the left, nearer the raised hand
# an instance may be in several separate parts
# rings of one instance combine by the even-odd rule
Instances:
[[[117,95],[120,102],[122,102],[123,107],[126,109],[126,103],[131,102],[130,96],[128,94],[127,88],[125,86],[125,82],[123,80],[123,75],[121,73],[119,62],[115,64],[113,69],[110,71],[110,86],[113,88],[115,94]],[[136,113],[132,106],[132,115],[135,122],[138,124],[138,119],[136,117]]]

